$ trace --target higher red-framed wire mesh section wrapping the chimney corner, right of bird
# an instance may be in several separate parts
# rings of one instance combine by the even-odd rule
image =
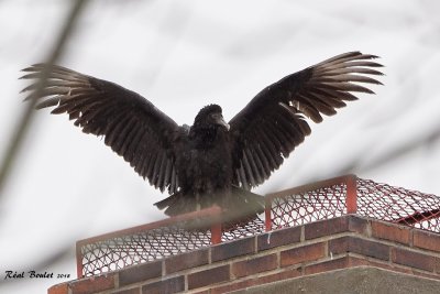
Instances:
[[[354,190],[354,193],[349,193]],[[268,195],[267,229],[348,213],[440,232],[440,197],[346,175]],[[350,203],[354,209],[349,211]],[[267,225],[270,222],[270,225]]]

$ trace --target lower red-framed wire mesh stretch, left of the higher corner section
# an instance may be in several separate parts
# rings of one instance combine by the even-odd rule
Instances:
[[[78,277],[97,275],[211,246],[215,243],[212,235],[216,233],[215,227],[211,226],[212,219],[220,213],[219,208],[213,207],[78,241]],[[246,224],[230,227],[226,231],[220,229],[218,233],[220,241],[228,241],[263,231],[264,221],[257,217]]]

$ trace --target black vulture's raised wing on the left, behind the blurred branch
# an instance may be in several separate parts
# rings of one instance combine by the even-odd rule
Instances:
[[[178,126],[148,100],[113,83],[72,69],[53,66],[47,83],[37,91],[44,64],[23,69],[25,98],[36,108],[54,107],[52,113],[68,113],[82,132],[103,135],[105,143],[123,156],[156,188],[175,193],[178,187],[172,143]]]

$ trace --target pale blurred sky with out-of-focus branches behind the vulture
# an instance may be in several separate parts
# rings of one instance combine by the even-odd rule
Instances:
[[[20,69],[53,59],[191,124],[212,102],[229,120],[267,85],[333,55],[380,55],[385,86],[310,123],[312,134],[255,192],[355,173],[440,195],[439,13],[428,0],[0,0],[2,167],[14,159],[0,183],[0,292],[44,293],[76,279],[76,240],[165,217],[153,203],[166,194],[101,139],[50,110],[30,117]],[[8,270],[70,277],[3,280]]]

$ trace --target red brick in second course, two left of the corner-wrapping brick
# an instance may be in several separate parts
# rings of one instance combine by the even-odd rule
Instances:
[[[232,264],[232,273],[237,277],[248,276],[277,268],[276,254],[265,255],[256,259],[239,261]]]

